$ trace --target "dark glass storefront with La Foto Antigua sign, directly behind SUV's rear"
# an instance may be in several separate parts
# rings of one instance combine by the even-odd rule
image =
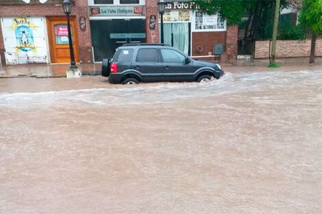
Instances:
[[[89,0],[95,62],[126,43],[146,42],[145,0]]]

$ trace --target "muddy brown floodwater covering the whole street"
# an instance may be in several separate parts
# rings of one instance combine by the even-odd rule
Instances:
[[[1,89],[1,214],[322,213],[322,70],[90,79]]]

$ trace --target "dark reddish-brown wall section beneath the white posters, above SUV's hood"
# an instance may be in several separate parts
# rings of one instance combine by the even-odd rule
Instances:
[[[205,56],[211,52],[213,55],[214,44],[223,43],[225,44],[226,32],[216,31],[216,32],[194,32],[193,33],[193,44],[191,45],[191,51],[193,56]],[[199,53],[197,51],[197,46],[202,46],[203,51]]]

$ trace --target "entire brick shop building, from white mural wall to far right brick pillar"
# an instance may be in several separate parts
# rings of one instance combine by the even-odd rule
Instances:
[[[164,43],[196,59],[237,55],[238,27],[219,14],[192,9],[187,0],[167,2]],[[0,53],[6,64],[69,62],[62,0],[0,0]],[[71,20],[75,59],[101,62],[124,43],[159,42],[158,0],[77,0]]]

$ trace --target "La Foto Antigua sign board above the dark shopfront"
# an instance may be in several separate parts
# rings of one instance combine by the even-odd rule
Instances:
[[[144,16],[144,6],[104,6],[90,8],[92,16]]]

